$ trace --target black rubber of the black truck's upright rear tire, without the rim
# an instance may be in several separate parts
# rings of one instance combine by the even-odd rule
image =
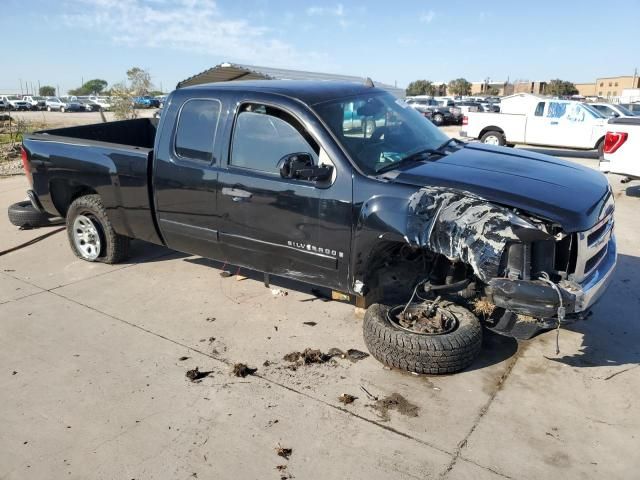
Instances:
[[[73,253],[82,260],[89,261],[76,249],[73,241],[73,221],[77,214],[90,213],[100,223],[100,230],[103,234],[104,245],[97,262],[114,264],[120,263],[129,256],[130,239],[115,232],[107,211],[102,204],[100,195],[84,195],[76,198],[67,211],[67,236]]]

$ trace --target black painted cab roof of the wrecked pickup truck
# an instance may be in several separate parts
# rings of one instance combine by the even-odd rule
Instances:
[[[338,98],[358,95],[362,93],[383,90],[367,86],[364,83],[313,81],[313,80],[240,80],[233,82],[216,82],[184,87],[184,90],[206,90],[217,92],[220,90],[242,90],[251,92],[273,93],[296,98],[308,105],[315,105]]]

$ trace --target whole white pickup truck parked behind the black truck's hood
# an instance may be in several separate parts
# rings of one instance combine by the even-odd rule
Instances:
[[[469,112],[460,135],[492,145],[524,143],[601,153],[608,119],[594,108],[537,97],[521,105],[519,113]]]

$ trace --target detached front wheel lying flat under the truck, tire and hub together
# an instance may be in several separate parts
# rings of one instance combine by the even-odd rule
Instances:
[[[364,342],[385,365],[415,373],[454,373],[480,353],[482,326],[466,308],[445,301],[404,308],[374,304],[365,314]]]

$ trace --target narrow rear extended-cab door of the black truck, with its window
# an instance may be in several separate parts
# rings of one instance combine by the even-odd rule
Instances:
[[[158,228],[176,250],[219,258],[216,194],[226,99],[175,93],[159,125],[154,159]],[[172,125],[169,125],[169,122]]]

